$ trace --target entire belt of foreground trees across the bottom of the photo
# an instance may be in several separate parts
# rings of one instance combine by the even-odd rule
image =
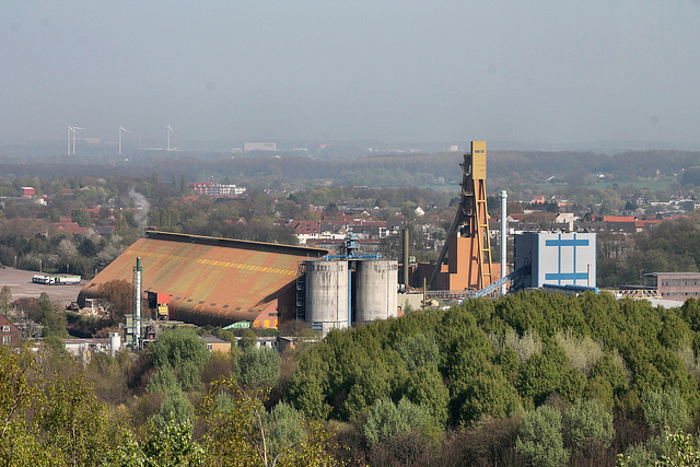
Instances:
[[[666,310],[605,294],[523,292],[332,330],[281,357],[255,342],[247,330],[240,348],[210,354],[194,330],[173,329],[136,355],[80,360],[51,337],[36,353],[2,349],[2,463],[698,458],[700,302],[692,299]]]

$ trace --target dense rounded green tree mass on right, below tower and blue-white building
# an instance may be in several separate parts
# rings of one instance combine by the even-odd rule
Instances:
[[[373,465],[645,465],[669,453],[667,427],[697,427],[699,313],[695,300],[472,300],[331,332],[287,397],[340,422]]]

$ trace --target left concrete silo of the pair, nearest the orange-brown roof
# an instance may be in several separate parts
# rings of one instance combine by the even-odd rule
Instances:
[[[348,327],[348,261],[306,261],[306,322],[324,335]]]

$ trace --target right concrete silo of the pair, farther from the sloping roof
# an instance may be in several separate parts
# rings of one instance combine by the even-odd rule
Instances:
[[[398,262],[364,259],[357,262],[354,320],[357,324],[397,315]]]

